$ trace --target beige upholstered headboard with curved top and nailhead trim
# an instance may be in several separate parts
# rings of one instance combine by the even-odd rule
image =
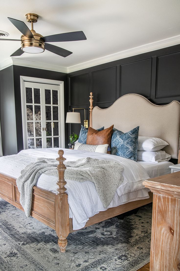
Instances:
[[[163,150],[172,158],[178,158],[180,128],[178,101],[172,101],[167,105],[155,105],[141,95],[127,94],[106,109],[97,106],[93,108],[92,127],[94,129],[102,126],[108,128],[112,124],[123,132],[139,126],[139,136],[162,138],[169,143],[169,146]]]

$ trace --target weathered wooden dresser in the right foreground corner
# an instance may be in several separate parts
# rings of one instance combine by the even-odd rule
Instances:
[[[143,184],[153,192],[150,271],[179,271],[180,171]]]

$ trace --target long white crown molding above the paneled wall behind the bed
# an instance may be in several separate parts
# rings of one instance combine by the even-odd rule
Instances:
[[[177,44],[180,44],[180,35],[170,37],[170,38],[165,38],[163,40],[158,40],[158,41],[151,42],[151,43],[147,43],[147,44],[137,46],[137,47],[134,47],[134,48],[131,48],[128,50],[124,50],[124,51],[120,51],[120,52],[110,54],[107,56],[92,59],[87,62],[79,63],[76,65],[67,67],[67,72],[68,73],[75,72],[78,70],[86,69],[86,68],[97,66],[100,64],[104,64],[104,63],[108,63],[108,62],[111,62],[114,60],[119,60],[119,59],[123,59],[126,57],[135,56],[137,54],[143,54],[143,53],[147,53],[150,51],[155,51],[158,49],[162,49],[162,48],[177,45]]]

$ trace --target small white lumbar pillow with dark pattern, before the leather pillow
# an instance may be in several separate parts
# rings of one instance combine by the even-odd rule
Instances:
[[[76,141],[76,145],[74,146],[74,150],[81,151],[91,151],[91,152],[99,152],[99,153],[107,153],[108,144],[104,145],[88,145],[82,144]]]

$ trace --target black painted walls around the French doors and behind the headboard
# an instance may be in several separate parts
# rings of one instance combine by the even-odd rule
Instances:
[[[73,73],[21,66],[0,71],[0,120],[4,155],[23,149],[20,75],[64,81],[64,116],[73,107],[86,108],[89,120],[89,95],[94,106],[109,107],[127,93],[138,93],[155,104],[180,101],[180,44]],[[79,111],[83,124],[84,110]],[[69,134],[79,134],[81,125],[70,124]],[[9,133],[9,131],[11,133]],[[65,124],[65,143],[68,125]]]

